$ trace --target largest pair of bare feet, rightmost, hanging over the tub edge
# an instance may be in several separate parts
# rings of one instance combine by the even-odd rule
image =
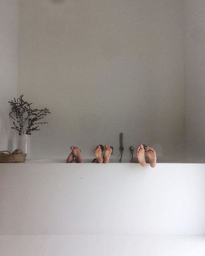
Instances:
[[[154,168],[156,166],[157,156],[156,156],[156,152],[151,147],[146,146],[145,149],[144,149],[144,146],[142,144],[140,144],[138,146],[137,154],[136,154],[138,162],[143,167],[146,165],[145,152],[147,154],[147,157],[149,158],[150,166],[152,168]]]

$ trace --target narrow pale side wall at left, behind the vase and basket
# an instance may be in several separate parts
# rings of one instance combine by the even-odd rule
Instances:
[[[0,151],[15,147],[8,100],[17,93],[18,10],[18,0],[0,0]]]

